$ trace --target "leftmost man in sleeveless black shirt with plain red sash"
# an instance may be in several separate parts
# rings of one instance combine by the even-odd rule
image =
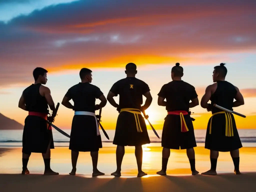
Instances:
[[[54,149],[51,127],[48,128],[47,120],[54,121],[54,117],[48,117],[48,105],[55,111],[55,104],[49,88],[43,86],[47,82],[47,70],[37,67],[33,71],[35,83],[27,87],[20,97],[19,108],[28,111],[22,138],[22,174],[28,174],[28,159],[31,153],[42,153],[45,163],[44,175],[58,175],[50,168],[51,151]]]

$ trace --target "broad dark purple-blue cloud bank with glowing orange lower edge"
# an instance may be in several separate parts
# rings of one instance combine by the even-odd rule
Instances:
[[[255,50],[255,9],[256,1],[249,0],[87,0],[48,6],[0,22],[0,86],[16,83],[15,78],[26,81],[37,66],[115,67],[125,57],[161,60]]]

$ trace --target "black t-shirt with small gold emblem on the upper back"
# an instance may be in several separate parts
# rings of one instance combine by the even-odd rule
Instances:
[[[142,95],[150,91],[148,85],[135,77],[126,77],[113,84],[110,91],[119,94],[119,107],[140,109],[143,103]]]

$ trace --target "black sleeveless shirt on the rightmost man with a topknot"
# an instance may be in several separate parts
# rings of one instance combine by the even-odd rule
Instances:
[[[228,81],[217,81],[217,89],[211,95],[210,101],[212,104],[217,104],[223,108],[233,111],[233,102],[237,94],[236,88]],[[214,107],[212,114],[222,111]]]

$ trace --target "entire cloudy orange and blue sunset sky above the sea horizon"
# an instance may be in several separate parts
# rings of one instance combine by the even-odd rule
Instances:
[[[226,62],[227,80],[245,97],[245,105],[235,109],[247,115],[236,117],[238,128],[255,128],[255,1],[61,2],[54,6],[45,2],[40,9],[30,3],[31,12],[10,4],[15,14],[8,20],[3,20],[7,9],[1,11],[0,6],[0,112],[4,115],[24,123],[27,112],[17,103],[33,83],[35,67],[49,70],[47,87],[57,103],[80,81],[80,68],[92,69],[92,84],[106,96],[113,83],[125,77],[124,66],[134,62],[136,77],[151,89],[150,121],[161,129],[166,111],[157,105],[157,93],[170,81],[171,67],[181,63],[183,80],[196,88],[200,100],[212,84],[213,67]],[[24,11],[30,14],[23,15]],[[200,114],[195,129],[205,129],[210,115],[203,114],[206,110],[200,106],[191,111]],[[106,129],[114,129],[117,115],[108,103],[102,112]],[[61,105],[55,124],[70,128],[72,117],[73,111]]]

